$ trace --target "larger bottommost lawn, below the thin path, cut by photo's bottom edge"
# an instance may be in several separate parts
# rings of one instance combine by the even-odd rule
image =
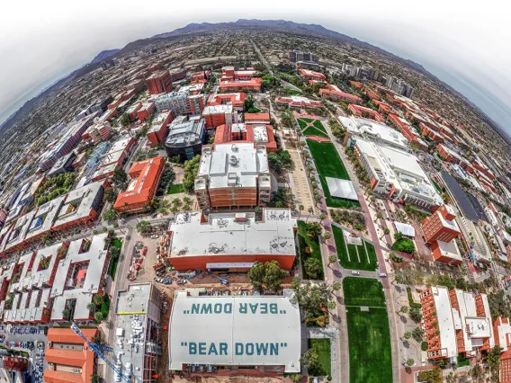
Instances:
[[[346,307],[351,383],[392,382],[389,318],[385,308]]]

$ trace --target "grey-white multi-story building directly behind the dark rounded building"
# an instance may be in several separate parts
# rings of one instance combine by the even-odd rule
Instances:
[[[189,89],[182,88],[178,92],[161,94],[155,99],[157,111],[174,111],[175,116],[199,115],[204,109],[204,95],[190,94]]]

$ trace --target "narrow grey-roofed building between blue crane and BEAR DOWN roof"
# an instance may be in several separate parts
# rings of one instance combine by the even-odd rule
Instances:
[[[130,284],[117,292],[114,363],[139,383],[154,382],[162,354],[160,327],[163,294],[152,283]],[[115,378],[117,379],[117,377]]]

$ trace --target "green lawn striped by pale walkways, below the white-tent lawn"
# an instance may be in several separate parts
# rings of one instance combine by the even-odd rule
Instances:
[[[362,246],[346,246],[343,229],[333,225],[332,230],[336,240],[337,257],[341,266],[349,270],[364,270],[367,272],[373,272],[378,268],[376,251],[372,244],[362,241]]]

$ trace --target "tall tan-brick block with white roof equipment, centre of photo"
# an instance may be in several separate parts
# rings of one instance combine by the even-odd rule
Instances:
[[[202,147],[195,178],[195,195],[201,209],[264,206],[271,191],[264,146],[229,143]]]

